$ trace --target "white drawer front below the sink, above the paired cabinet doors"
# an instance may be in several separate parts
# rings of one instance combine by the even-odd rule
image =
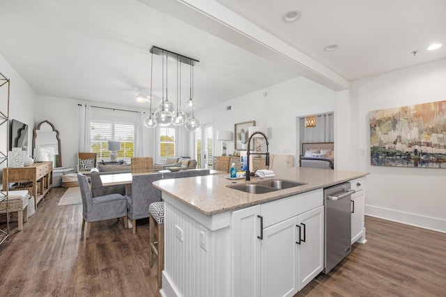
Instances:
[[[298,216],[321,205],[323,205],[323,188],[262,204],[263,227]]]

